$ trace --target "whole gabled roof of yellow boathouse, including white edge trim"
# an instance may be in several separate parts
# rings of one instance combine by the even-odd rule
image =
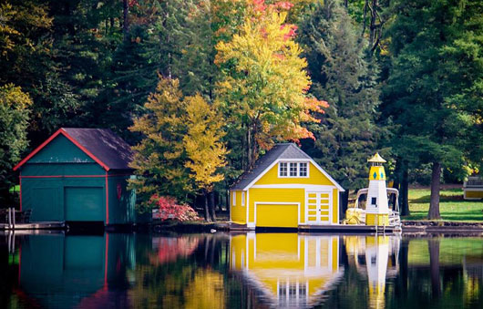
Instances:
[[[270,170],[277,160],[310,160],[325,177],[331,180],[340,191],[344,189],[325,170],[323,170],[309,155],[294,143],[281,143],[272,147],[265,155],[256,161],[252,170],[245,171],[231,186],[231,190],[247,190],[253,182]]]

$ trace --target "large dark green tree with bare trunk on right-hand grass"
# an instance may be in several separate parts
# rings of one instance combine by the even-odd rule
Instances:
[[[389,29],[392,67],[384,91],[384,112],[396,124],[392,146],[398,157],[413,166],[431,164],[428,219],[439,219],[441,169],[457,170],[464,165],[468,129],[474,123],[468,107],[474,102],[481,106],[481,97],[472,101],[465,94],[480,83],[481,41],[477,37],[481,37],[482,25],[475,20],[482,14],[482,5],[477,0],[464,4],[405,0],[392,5],[396,19]],[[474,36],[476,43],[469,45],[468,54],[461,53],[467,46],[462,42],[465,36]],[[464,63],[475,72],[460,67],[463,55],[468,59]]]

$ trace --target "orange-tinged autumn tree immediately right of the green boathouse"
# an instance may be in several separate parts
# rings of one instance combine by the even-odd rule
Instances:
[[[144,105],[146,114],[134,119],[129,129],[141,134],[142,139],[133,147],[136,179],[130,187],[138,193],[141,209],[148,209],[147,201],[157,193],[186,201],[193,191],[183,138],[186,133],[184,115],[186,103],[182,99],[177,79],[159,76],[156,91]]]

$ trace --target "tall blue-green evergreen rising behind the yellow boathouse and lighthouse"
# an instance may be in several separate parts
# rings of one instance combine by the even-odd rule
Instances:
[[[316,5],[300,30],[311,92],[329,103],[321,123],[310,127],[316,139],[307,152],[344,188],[363,188],[367,158],[374,154],[381,131],[375,125],[377,67],[365,59],[367,42],[340,0]]]

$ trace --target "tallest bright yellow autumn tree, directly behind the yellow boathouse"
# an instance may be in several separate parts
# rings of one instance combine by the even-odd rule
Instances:
[[[293,39],[296,26],[285,24],[291,6],[253,1],[239,33],[216,46],[217,98],[231,117],[229,129],[242,132],[244,169],[276,140],[313,138],[303,122],[317,121],[311,113],[325,106],[307,93],[311,80]]]

